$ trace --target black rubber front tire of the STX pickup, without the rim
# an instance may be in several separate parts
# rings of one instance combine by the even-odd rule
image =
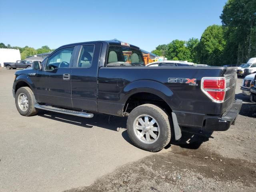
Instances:
[[[24,94],[28,99],[28,108],[25,111],[22,110],[18,104],[18,97],[20,94]],[[21,87],[17,90],[15,94],[15,104],[18,112],[23,116],[33,116],[38,112],[38,110],[34,107],[36,104],[36,98],[29,87]]]

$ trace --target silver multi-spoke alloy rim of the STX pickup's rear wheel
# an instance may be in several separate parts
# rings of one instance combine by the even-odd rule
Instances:
[[[145,144],[156,142],[160,135],[158,122],[147,114],[140,115],[134,120],[133,130],[140,142]]]

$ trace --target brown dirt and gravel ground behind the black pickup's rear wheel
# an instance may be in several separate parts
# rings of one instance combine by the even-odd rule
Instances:
[[[169,151],[119,167],[90,186],[65,192],[248,192],[256,191],[256,105],[243,100],[236,124],[225,132],[182,132]],[[125,150],[125,149],[124,149]]]

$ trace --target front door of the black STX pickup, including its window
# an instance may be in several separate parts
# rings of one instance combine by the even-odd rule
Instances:
[[[72,108],[71,67],[76,48],[66,47],[52,54],[36,76],[36,96],[39,102]]]

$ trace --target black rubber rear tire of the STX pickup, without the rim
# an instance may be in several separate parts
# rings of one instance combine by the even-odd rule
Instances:
[[[158,139],[154,143],[144,143],[135,134],[134,122],[143,114],[151,116],[158,122],[160,132]],[[172,132],[166,112],[153,104],[140,105],[130,112],[127,120],[127,131],[135,146],[150,152],[157,152],[164,148],[170,142]]]

